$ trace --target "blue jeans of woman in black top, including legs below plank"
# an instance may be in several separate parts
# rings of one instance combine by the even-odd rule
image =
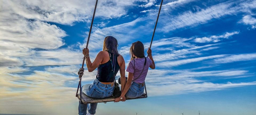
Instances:
[[[114,92],[114,84],[103,84],[99,82],[98,79],[95,79],[92,84],[86,84],[82,86],[82,92],[85,95],[92,97],[92,98],[106,98],[113,95]],[[91,114],[96,113],[97,103],[90,103],[90,104],[80,104],[78,105],[78,114],[79,115],[86,115],[86,110],[88,108],[88,112]]]

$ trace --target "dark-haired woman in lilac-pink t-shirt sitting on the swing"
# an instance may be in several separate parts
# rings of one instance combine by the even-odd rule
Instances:
[[[147,50],[147,54],[149,57],[145,57],[142,42],[136,41],[132,43],[130,48],[131,61],[126,69],[126,71],[129,72],[128,79],[121,96],[117,97],[114,102],[125,101],[125,97],[136,98],[144,93],[147,71],[149,67],[155,69],[151,49]]]

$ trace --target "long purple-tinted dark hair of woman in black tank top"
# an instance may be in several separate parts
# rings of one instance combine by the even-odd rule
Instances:
[[[115,54],[115,56],[119,56],[119,53],[117,51],[117,39],[115,39],[113,36],[107,36],[104,39],[103,42],[103,51],[109,51]]]

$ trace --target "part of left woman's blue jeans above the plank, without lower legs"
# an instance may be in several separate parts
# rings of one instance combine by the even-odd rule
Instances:
[[[114,83],[103,84],[98,79],[95,79],[92,84],[84,85],[82,92],[89,97],[101,99],[112,96],[114,87]]]

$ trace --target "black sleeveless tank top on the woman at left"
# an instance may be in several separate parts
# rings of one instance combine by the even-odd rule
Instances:
[[[97,69],[98,69],[98,74],[96,76],[96,78],[100,81],[100,82],[114,82],[114,76],[117,75],[117,72],[119,70],[119,64],[117,62],[117,56],[115,56],[113,53],[110,53],[110,58],[112,59],[113,62],[113,71],[112,72],[112,67],[111,67],[111,62],[110,60],[106,63],[100,64]],[[114,74],[114,75],[113,75]]]

